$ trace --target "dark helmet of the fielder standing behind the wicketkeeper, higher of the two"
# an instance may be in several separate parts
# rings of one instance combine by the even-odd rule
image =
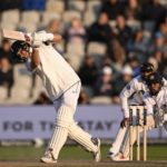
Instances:
[[[154,66],[149,62],[145,62],[140,66],[141,78],[146,81],[148,76],[146,76],[145,72],[154,72]]]

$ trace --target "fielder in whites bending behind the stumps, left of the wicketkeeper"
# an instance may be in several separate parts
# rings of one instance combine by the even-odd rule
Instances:
[[[140,75],[134,78],[120,92],[120,105],[124,114],[124,119],[120,122],[120,128],[107,155],[111,160],[129,160],[128,134],[129,134],[129,105],[144,105],[143,95],[148,91],[147,79],[154,72],[154,66],[149,62],[143,63]],[[167,85],[163,79],[164,85]],[[149,129],[154,127],[153,112],[148,112]],[[141,129],[143,130],[143,129]],[[134,135],[134,143],[136,135]]]

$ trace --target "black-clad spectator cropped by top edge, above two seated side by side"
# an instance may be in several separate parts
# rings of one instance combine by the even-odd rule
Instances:
[[[118,14],[124,13],[124,3],[118,0],[107,0],[102,3],[101,12],[106,12],[109,20],[116,20]]]

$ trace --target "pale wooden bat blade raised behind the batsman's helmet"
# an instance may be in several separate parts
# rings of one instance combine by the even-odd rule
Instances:
[[[24,33],[21,31],[2,29],[2,37],[11,40],[26,41]]]

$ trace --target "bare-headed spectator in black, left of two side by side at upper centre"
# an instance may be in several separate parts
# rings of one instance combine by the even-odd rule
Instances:
[[[109,19],[106,12],[101,12],[97,21],[88,28],[88,42],[97,41],[107,45],[111,40],[111,28],[109,26]]]

